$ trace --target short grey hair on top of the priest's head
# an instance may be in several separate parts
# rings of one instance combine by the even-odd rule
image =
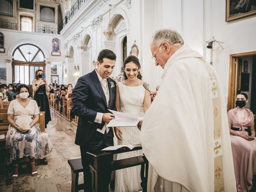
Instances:
[[[159,46],[163,41],[167,41],[171,45],[176,43],[184,44],[181,35],[177,31],[170,29],[160,29],[154,33],[152,44]]]

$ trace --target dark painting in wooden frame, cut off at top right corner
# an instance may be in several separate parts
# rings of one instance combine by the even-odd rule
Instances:
[[[256,14],[255,0],[226,0],[226,22]]]

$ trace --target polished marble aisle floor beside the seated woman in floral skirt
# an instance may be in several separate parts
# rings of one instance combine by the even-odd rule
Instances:
[[[76,126],[51,112],[52,121],[46,132],[54,149],[47,157],[47,165],[37,165],[38,175],[32,177],[28,163],[20,164],[18,179],[12,180],[12,166],[0,167],[0,192],[70,192],[69,159],[80,158],[80,148],[74,144]],[[83,182],[80,173],[79,183]],[[83,190],[81,190],[83,191]],[[81,192],[80,191],[80,192]]]

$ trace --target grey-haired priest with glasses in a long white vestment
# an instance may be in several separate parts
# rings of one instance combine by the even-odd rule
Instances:
[[[236,192],[228,119],[212,66],[183,46],[180,34],[159,30],[151,44],[162,84],[144,116],[148,192]]]

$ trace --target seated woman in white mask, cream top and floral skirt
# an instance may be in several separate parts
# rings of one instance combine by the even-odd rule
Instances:
[[[26,84],[20,84],[17,89],[19,98],[12,100],[8,108],[8,122],[6,134],[6,149],[13,161],[13,179],[18,177],[18,161],[29,156],[32,176],[37,175],[35,159],[42,159],[52,151],[49,135],[42,133],[36,124],[39,110],[35,100],[29,99],[30,90]]]

